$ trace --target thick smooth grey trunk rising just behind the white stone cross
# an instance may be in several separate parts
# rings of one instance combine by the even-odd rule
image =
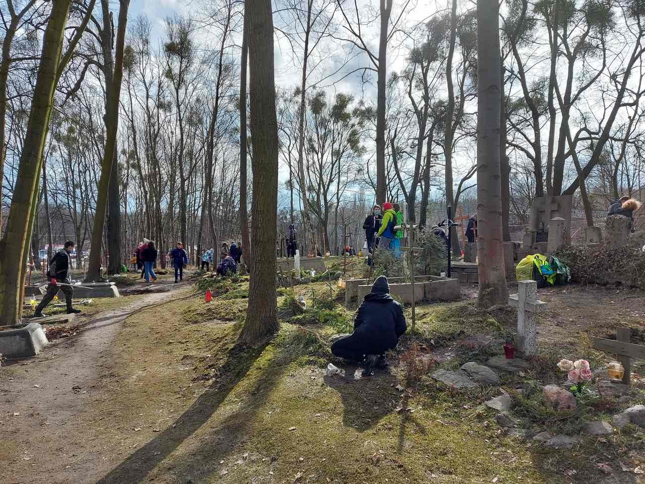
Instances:
[[[484,308],[508,304],[502,245],[498,22],[497,0],[477,0],[477,305]]]

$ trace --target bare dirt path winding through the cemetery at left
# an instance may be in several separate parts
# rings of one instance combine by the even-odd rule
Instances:
[[[92,449],[92,436],[72,438],[74,427],[95,418],[90,409],[101,399],[104,377],[117,364],[110,345],[124,319],[185,287],[176,285],[172,292],[142,296],[99,313],[76,336],[6,368],[9,375],[0,379],[0,481],[26,484],[35,476],[43,483],[95,481],[90,476],[100,473],[101,462],[110,466],[101,449]]]

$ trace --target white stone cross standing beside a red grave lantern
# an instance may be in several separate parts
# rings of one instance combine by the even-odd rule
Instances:
[[[517,349],[521,356],[533,356],[537,350],[535,315],[547,304],[537,299],[537,282],[519,281],[518,293],[508,297],[508,305],[517,308]]]

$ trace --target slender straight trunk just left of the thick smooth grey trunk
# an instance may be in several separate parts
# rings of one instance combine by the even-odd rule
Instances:
[[[453,141],[453,116],[455,113],[455,88],[452,83],[452,59],[455,54],[455,43],[457,43],[457,0],[452,0],[450,12],[450,46],[448,46],[448,58],[446,59],[446,83],[448,84],[448,107],[446,108],[446,123],[444,128],[444,159],[446,163],[446,205],[453,205],[454,180],[452,176],[452,141]],[[457,210],[457,207],[453,207]],[[459,239],[457,238],[457,227],[450,227],[450,239],[452,241],[452,253],[459,257]]]

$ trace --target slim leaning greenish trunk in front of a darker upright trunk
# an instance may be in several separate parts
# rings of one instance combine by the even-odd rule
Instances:
[[[114,58],[114,76],[110,89],[106,91],[106,141],[101,163],[101,177],[97,187],[94,228],[92,229],[92,244],[90,245],[90,263],[87,270],[86,282],[96,281],[101,276],[101,247],[103,246],[103,225],[108,202],[108,188],[112,165],[117,145],[119,130],[119,97],[121,95],[121,80],[123,79],[123,48],[125,43],[126,22],[128,21],[128,5],[130,0],[120,0],[119,26],[117,28],[116,52]],[[106,70],[108,66],[105,66]],[[107,79],[107,76],[106,76]]]

